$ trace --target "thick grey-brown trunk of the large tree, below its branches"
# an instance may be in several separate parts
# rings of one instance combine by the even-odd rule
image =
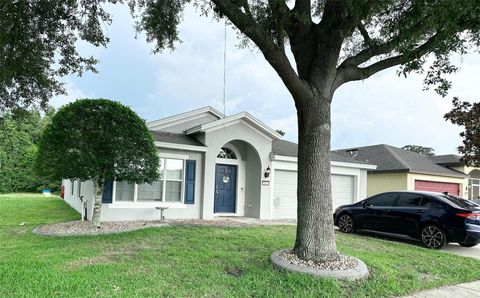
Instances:
[[[338,258],[330,180],[331,98],[297,100],[298,188],[294,253],[305,260]]]

